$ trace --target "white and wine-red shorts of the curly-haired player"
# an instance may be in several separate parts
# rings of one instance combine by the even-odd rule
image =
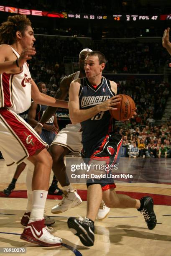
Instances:
[[[0,151],[7,165],[20,164],[43,148],[48,148],[48,144],[23,118],[0,108]]]

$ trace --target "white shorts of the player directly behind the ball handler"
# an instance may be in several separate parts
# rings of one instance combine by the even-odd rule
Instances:
[[[75,155],[80,154],[82,150],[82,131],[80,123],[68,124],[54,138],[51,145],[60,145],[68,148]]]

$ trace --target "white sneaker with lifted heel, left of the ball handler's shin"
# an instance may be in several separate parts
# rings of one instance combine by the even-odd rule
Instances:
[[[75,190],[74,192],[67,192],[66,195],[64,194],[61,202],[51,209],[51,212],[57,214],[65,212],[69,208],[76,207],[81,203],[82,200],[81,197],[77,194],[77,190]]]

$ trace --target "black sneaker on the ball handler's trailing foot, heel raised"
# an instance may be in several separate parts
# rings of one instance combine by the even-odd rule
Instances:
[[[153,198],[143,197],[141,200],[143,200],[144,205],[143,210],[140,210],[140,213],[143,214],[148,229],[153,229],[157,224],[156,214],[153,210]]]

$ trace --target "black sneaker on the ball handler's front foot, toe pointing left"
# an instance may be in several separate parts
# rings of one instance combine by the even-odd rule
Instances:
[[[70,217],[68,219],[68,227],[74,235],[78,236],[80,241],[84,246],[94,245],[94,224],[88,218],[74,218]]]

